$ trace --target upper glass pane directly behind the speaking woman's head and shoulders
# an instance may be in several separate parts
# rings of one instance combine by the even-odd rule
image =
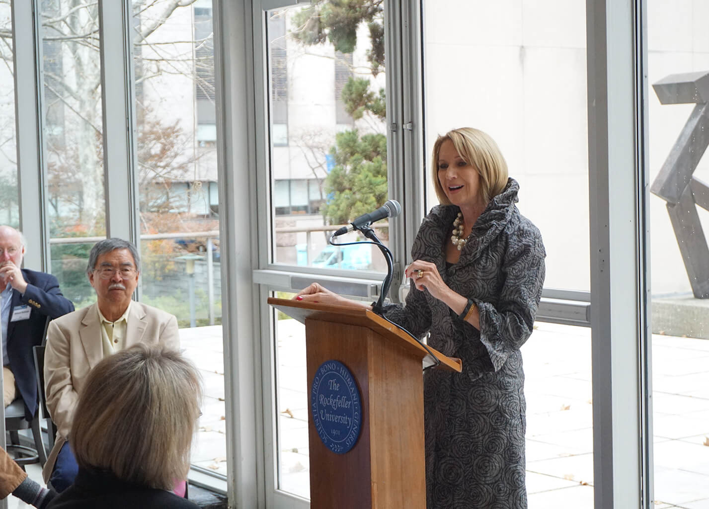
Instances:
[[[586,2],[423,5],[427,207],[437,203],[437,135],[485,131],[520,184],[520,212],[544,237],[545,286],[588,291]]]

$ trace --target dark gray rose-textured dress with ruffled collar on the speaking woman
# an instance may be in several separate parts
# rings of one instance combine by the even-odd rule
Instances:
[[[436,264],[451,289],[473,299],[480,330],[428,291],[411,286],[406,307],[386,316],[463,361],[461,374],[430,369],[424,379],[428,509],[524,509],[525,398],[520,346],[542,296],[542,236],[515,203],[514,179],[476,221],[457,264],[446,268],[457,206],[436,206],[413,244],[413,259]]]

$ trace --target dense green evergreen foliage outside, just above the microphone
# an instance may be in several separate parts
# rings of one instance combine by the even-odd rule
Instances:
[[[325,179],[328,203],[320,209],[330,224],[347,223],[384,204],[385,135],[367,134],[359,138],[356,129],[337,133],[330,154],[335,158],[335,167]]]

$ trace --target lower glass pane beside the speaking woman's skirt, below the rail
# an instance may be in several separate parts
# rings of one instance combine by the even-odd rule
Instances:
[[[593,509],[591,329],[537,322],[522,355],[529,507]]]

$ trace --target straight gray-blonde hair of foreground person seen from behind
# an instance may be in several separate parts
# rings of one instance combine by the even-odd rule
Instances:
[[[77,464],[172,490],[186,479],[199,418],[199,371],[179,352],[136,345],[96,364],[69,432]]]

